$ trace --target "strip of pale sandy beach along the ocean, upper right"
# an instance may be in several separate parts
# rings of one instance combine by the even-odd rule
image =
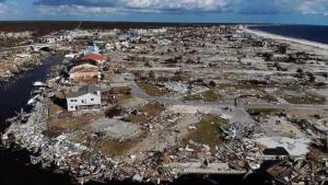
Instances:
[[[319,48],[319,49],[328,49],[328,44],[323,44],[323,43],[312,42],[312,41],[302,39],[302,38],[293,38],[293,37],[289,37],[289,36],[272,34],[272,33],[269,33],[269,32],[253,30],[249,26],[246,26],[244,28],[244,32],[255,34],[257,36],[265,37],[265,38],[277,39],[277,41],[280,41],[280,42],[290,42],[290,43],[294,43],[294,44],[301,44],[301,45],[316,47],[316,48]]]

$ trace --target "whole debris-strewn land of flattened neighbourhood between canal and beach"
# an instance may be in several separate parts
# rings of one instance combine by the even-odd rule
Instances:
[[[243,25],[75,30],[39,39],[69,54],[36,83],[31,114],[8,119],[2,136],[7,147],[28,149],[33,164],[80,184],[257,172],[283,184],[324,182],[327,165],[308,155],[324,155],[328,96],[317,79],[325,86],[325,51]]]

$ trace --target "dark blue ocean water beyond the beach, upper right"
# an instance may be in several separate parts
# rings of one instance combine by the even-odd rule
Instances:
[[[249,28],[328,44],[328,26],[324,25],[256,25],[249,26]]]

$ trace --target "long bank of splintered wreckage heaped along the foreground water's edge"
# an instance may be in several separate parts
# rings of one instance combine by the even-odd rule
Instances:
[[[26,116],[30,116],[27,122]],[[309,157],[291,157],[283,148],[261,149],[251,138],[260,132],[258,124],[232,123],[223,130],[230,142],[215,147],[192,140],[185,148],[167,147],[163,152],[150,151],[140,155],[107,158],[99,152],[68,139],[69,134],[56,138],[44,135],[47,129],[47,108],[35,104],[30,115],[20,114],[2,136],[5,146],[17,143],[32,152],[31,162],[44,167],[70,172],[78,183],[87,181],[133,180],[138,182],[173,181],[184,174],[245,174],[265,171],[282,184],[325,182],[327,161],[313,167]],[[21,123],[23,122],[23,123]]]

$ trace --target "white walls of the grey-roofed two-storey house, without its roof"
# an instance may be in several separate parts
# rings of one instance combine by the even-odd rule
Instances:
[[[69,112],[78,111],[79,106],[102,105],[101,92],[97,94],[87,93],[79,97],[67,97],[67,107]]]

